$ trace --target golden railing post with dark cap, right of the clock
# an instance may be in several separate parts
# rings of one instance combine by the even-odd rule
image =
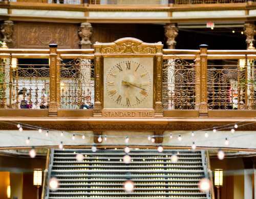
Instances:
[[[207,48],[208,45],[200,45],[200,108],[199,116],[207,117],[208,116],[208,107],[207,107]]]

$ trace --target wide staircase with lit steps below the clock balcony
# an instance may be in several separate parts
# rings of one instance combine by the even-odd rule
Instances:
[[[76,161],[82,153],[83,162]],[[170,157],[178,156],[173,163]],[[59,181],[57,191],[46,190],[45,199],[209,199],[200,192],[198,182],[207,178],[204,151],[133,149],[130,164],[124,150],[65,149],[51,151],[48,179]],[[135,189],[126,193],[123,182],[127,173]]]

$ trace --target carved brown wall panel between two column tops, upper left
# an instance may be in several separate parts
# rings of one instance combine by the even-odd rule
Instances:
[[[58,48],[78,49],[78,25],[58,23],[14,23],[13,48],[49,48],[57,43]],[[26,35],[26,36],[25,36]]]

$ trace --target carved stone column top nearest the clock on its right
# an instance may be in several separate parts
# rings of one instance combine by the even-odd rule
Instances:
[[[164,27],[165,29],[165,36],[167,38],[166,44],[168,49],[175,49],[176,41],[175,38],[178,35],[178,28],[175,24],[168,24]]]

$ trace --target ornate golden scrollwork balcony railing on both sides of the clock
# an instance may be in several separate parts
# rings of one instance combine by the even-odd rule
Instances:
[[[256,109],[255,50],[201,46],[164,49],[162,57],[162,103],[168,113]],[[0,49],[0,61],[0,112],[94,108],[93,49]]]

